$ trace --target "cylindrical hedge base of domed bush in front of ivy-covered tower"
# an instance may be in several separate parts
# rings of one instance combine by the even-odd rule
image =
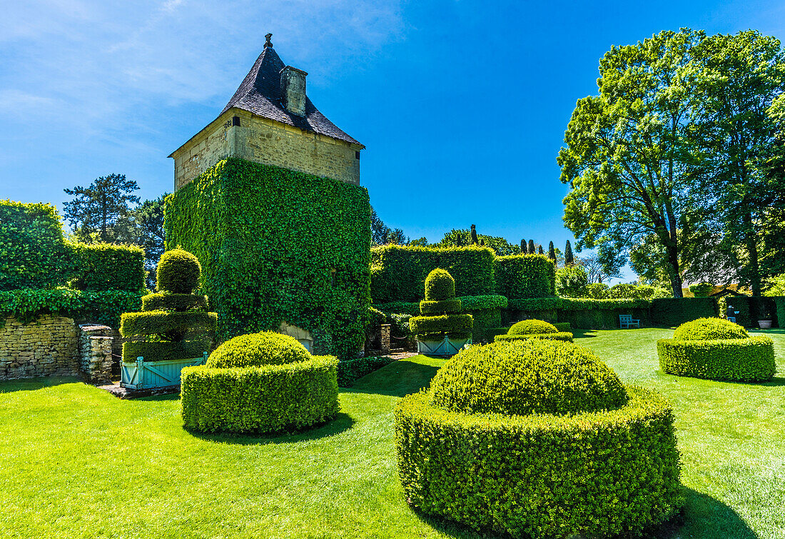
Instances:
[[[338,414],[338,359],[181,372],[184,426],[205,432],[275,432],[324,423]]]

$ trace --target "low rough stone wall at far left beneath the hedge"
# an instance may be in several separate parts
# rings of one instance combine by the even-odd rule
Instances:
[[[75,376],[77,328],[71,318],[45,315],[23,325],[5,318],[0,328],[0,380]]]

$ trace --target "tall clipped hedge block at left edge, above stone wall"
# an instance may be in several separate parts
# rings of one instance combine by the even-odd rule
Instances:
[[[57,208],[0,200],[0,291],[64,286],[75,270]]]

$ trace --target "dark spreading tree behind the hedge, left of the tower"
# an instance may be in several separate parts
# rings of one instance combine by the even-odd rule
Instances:
[[[125,174],[109,174],[87,187],[64,189],[74,197],[64,203],[64,217],[79,237],[97,234],[101,241],[117,241],[115,226],[128,217],[130,204],[139,203],[139,197],[130,194],[137,189],[137,182],[126,179]]]

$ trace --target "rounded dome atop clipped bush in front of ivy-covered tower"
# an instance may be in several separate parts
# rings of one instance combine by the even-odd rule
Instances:
[[[251,333],[229,339],[217,347],[208,367],[260,367],[308,361],[312,356],[297,339],[276,332]]]

